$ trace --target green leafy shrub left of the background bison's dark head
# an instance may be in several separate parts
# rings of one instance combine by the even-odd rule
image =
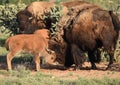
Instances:
[[[25,7],[25,4],[0,5],[0,31],[10,34],[19,33],[16,14]]]

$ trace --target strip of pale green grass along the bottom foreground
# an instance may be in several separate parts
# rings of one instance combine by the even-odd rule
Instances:
[[[1,75],[0,71],[0,75]],[[3,72],[2,75],[9,74],[7,77],[0,78],[0,85],[120,85],[120,77],[103,79],[88,79],[79,77],[76,80],[64,80],[53,77],[51,74],[36,72],[31,74],[30,70],[19,67],[11,72]]]

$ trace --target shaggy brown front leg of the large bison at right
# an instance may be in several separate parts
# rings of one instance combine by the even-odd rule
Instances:
[[[71,53],[76,65],[75,69],[80,69],[82,68],[82,64],[85,61],[85,55],[84,52],[82,50],[80,50],[78,48],[78,46],[76,46],[75,44],[71,45]]]

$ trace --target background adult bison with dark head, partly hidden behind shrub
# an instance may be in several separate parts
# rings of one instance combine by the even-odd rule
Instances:
[[[51,7],[54,7],[53,2],[33,2],[24,10],[17,13],[17,21],[21,33],[33,33],[36,29],[51,27],[51,20],[44,20],[45,12],[49,12]],[[47,21],[47,22],[46,22]]]

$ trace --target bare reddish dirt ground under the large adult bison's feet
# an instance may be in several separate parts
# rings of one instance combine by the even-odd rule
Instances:
[[[55,65],[55,66],[42,66],[42,69],[40,70],[42,73],[50,74],[52,75],[52,78],[62,78],[62,79],[78,79],[80,77],[83,78],[104,78],[104,77],[110,77],[110,78],[117,78],[120,77],[120,64],[114,63],[112,65],[112,68],[109,70],[106,70],[106,67],[108,63],[99,63],[96,64],[98,69],[92,70],[90,69],[90,63],[85,62],[83,65],[83,69],[81,70],[73,70],[74,65],[69,68],[65,69],[62,65]],[[0,64],[0,70],[6,70],[6,65]],[[34,69],[31,69],[31,74],[35,75],[36,71]]]

